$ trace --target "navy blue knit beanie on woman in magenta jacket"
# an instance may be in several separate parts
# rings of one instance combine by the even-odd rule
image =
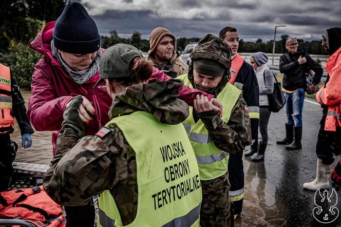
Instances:
[[[80,3],[64,8],[53,31],[54,46],[68,53],[93,53],[101,45],[98,28]]]

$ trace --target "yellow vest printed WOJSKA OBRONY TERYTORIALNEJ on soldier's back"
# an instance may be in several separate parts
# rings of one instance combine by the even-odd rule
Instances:
[[[182,124],[162,124],[146,111],[113,118],[106,126],[111,124],[136,154],[138,205],[126,226],[199,226],[199,169]],[[99,197],[99,208],[100,226],[123,225],[110,191]]]

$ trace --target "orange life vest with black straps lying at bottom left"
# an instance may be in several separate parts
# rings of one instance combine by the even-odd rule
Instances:
[[[62,227],[66,220],[62,207],[56,204],[40,186],[40,192],[32,188],[0,193],[0,218],[22,218],[37,226]]]

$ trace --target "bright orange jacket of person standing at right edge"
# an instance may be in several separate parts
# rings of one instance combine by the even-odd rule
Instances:
[[[328,106],[325,130],[336,131],[341,127],[341,47],[327,60],[325,66],[329,82],[316,93],[316,100]]]

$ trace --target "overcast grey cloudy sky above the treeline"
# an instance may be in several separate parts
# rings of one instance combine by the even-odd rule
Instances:
[[[102,35],[116,30],[121,37],[140,31],[143,39],[159,26],[177,37],[217,35],[225,26],[237,28],[240,39],[255,41],[289,34],[320,40],[327,28],[341,26],[340,0],[81,0]]]

